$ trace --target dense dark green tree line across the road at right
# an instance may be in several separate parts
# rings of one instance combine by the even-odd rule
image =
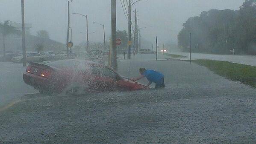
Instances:
[[[183,23],[178,35],[179,48],[189,51],[256,55],[256,0],[245,0],[239,10],[204,11],[197,17],[190,17]]]

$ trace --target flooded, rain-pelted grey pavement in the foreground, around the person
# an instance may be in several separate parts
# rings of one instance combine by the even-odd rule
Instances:
[[[0,112],[0,143],[256,142],[256,89],[186,61],[118,61],[127,77],[139,76],[140,67],[162,72],[166,88],[27,95]]]

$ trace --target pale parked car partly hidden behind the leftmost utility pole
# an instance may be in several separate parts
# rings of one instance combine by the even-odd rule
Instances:
[[[37,52],[31,52],[31,53],[26,54],[26,61],[28,61],[28,62],[44,61],[44,60],[46,60],[46,58],[47,57],[45,55],[41,55]],[[23,57],[21,55],[21,56],[12,58],[11,61],[14,63],[18,63],[18,62],[22,62],[22,60],[23,60]]]

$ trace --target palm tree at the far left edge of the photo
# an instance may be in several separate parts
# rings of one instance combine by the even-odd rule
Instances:
[[[10,25],[10,20],[0,23],[0,32],[3,35],[3,59],[5,60],[5,37],[9,34],[15,33],[15,27]]]

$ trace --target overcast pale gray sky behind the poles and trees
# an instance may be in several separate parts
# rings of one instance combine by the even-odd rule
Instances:
[[[126,2],[126,0],[124,0]],[[154,41],[159,37],[160,43],[177,42],[177,34],[182,23],[188,17],[198,16],[210,9],[239,9],[244,0],[143,0],[132,7],[138,10],[138,24],[147,27],[141,30],[141,36]],[[117,3],[117,29],[127,30],[128,24],[121,7]],[[88,14],[89,41],[103,41],[103,28],[97,23],[105,24],[106,37],[110,35],[110,0],[73,0],[71,12]],[[41,29],[49,32],[50,38],[65,43],[67,33],[68,0],[25,0],[25,23],[32,23],[31,34]],[[128,10],[128,9],[127,9]],[[21,22],[21,0],[0,0],[0,21]],[[132,23],[134,13],[132,13]],[[71,14],[73,40],[79,44],[86,39],[86,18]]]

